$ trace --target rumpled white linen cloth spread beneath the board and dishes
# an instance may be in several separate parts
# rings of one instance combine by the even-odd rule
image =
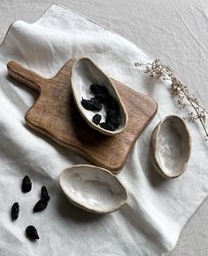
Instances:
[[[116,213],[96,216],[71,206],[58,186],[60,171],[86,163],[72,151],[27,128],[24,115],[37,95],[8,78],[6,64],[16,59],[51,77],[72,57],[92,58],[109,76],[154,97],[158,113],[140,136],[119,178],[127,186],[126,206]],[[150,80],[135,61],[150,58],[119,35],[56,4],[34,24],[16,21],[0,49],[0,255],[167,255],[181,229],[207,195],[207,144],[197,123],[190,123],[192,154],[187,171],[166,181],[151,167],[150,133],[159,120],[179,111],[163,83]],[[24,175],[33,190],[22,194]],[[48,208],[32,213],[45,184],[51,195]],[[19,219],[10,209],[19,201]],[[41,239],[31,243],[24,231],[35,225]]]

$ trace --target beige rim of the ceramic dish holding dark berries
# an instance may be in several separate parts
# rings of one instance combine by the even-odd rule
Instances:
[[[124,126],[122,128],[118,128],[115,131],[106,130],[106,129],[101,128],[100,126],[97,126],[96,124],[94,124],[92,120],[87,119],[85,114],[84,114],[84,112],[81,111],[82,106],[81,106],[80,101],[77,100],[76,97],[75,97],[75,94],[74,94],[74,90],[75,89],[74,89],[74,85],[73,85],[74,84],[73,83],[73,80],[74,80],[74,70],[75,70],[76,65],[81,60],[88,60],[94,66],[96,66],[96,64],[90,58],[87,58],[87,57],[75,58],[75,61],[74,61],[73,66],[72,66],[70,81],[71,81],[72,90],[73,90],[73,99],[74,99],[75,105],[77,106],[79,112],[81,113],[81,116],[83,117],[84,120],[87,121],[87,123],[89,124],[89,127],[96,129],[98,132],[100,132],[100,133],[102,133],[102,134],[104,134],[106,136],[114,136],[114,135],[117,135],[117,134],[121,133],[125,128],[127,128],[127,122],[128,122],[127,109],[126,109],[125,105],[123,104],[121,98],[119,97],[119,93],[118,93],[117,89],[115,88],[115,86],[113,85],[111,79],[106,74],[104,74],[104,72],[100,69],[99,66],[96,66],[97,70],[99,70],[99,72],[101,74],[104,74],[104,76],[106,77],[107,81],[111,84],[111,86],[112,86],[112,88],[113,88],[113,90],[114,90],[114,92],[116,94],[116,97],[118,97],[118,99],[119,99],[119,105],[123,109],[124,115],[125,115],[125,119],[126,119],[125,120],[125,124],[124,124]]]

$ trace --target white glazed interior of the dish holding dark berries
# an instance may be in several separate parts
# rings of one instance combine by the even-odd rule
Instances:
[[[99,113],[102,116],[101,122],[104,122],[106,118],[106,108],[104,107],[104,105],[102,107],[102,110],[99,112],[88,111],[84,109],[81,105],[82,97],[84,99],[90,99],[91,97],[95,97],[95,95],[90,91],[90,85],[92,83],[105,86],[111,96],[119,103],[119,99],[115,92],[115,89],[112,87],[112,84],[106,77],[106,75],[103,74],[103,72],[101,72],[101,70],[99,70],[88,58],[83,58],[78,61],[73,69],[73,94],[76,97],[77,104],[79,105],[81,111],[84,113],[85,117],[89,120],[89,122],[92,122],[92,118],[96,113]],[[117,130],[126,126],[127,122],[126,113],[124,112],[120,104],[119,112],[121,117],[121,124],[119,125],[119,128],[117,128]]]

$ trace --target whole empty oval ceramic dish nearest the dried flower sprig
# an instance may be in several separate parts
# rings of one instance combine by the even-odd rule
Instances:
[[[150,138],[150,160],[160,175],[167,179],[180,176],[186,169],[191,139],[185,122],[169,115],[154,128]]]

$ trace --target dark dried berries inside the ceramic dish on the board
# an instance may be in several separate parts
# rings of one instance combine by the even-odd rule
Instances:
[[[90,90],[95,97],[92,97],[89,100],[82,98],[81,105],[90,111],[100,111],[102,109],[102,104],[105,105],[107,109],[105,122],[100,122],[102,116],[98,113],[94,115],[92,121],[96,125],[100,125],[101,128],[110,131],[114,131],[119,128],[121,122],[119,117],[119,105],[110,95],[108,89],[102,85],[91,84]]]

